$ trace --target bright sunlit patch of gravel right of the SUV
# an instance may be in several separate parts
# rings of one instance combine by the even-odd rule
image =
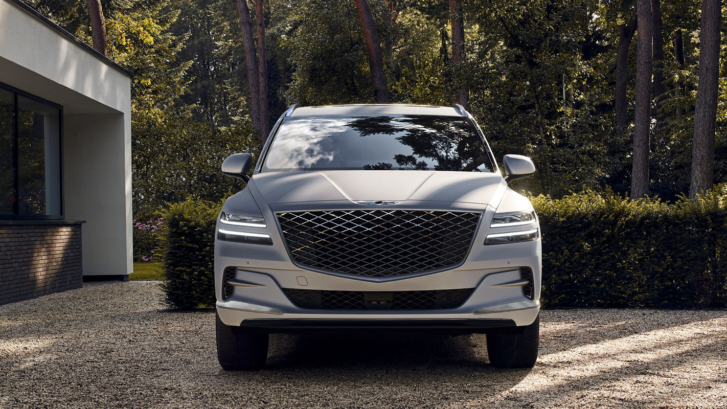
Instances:
[[[722,378],[727,371],[727,317],[721,315],[541,355],[534,370],[515,386],[463,406],[478,408],[512,401],[513,405],[537,402],[535,407],[588,407],[583,404],[588,400],[601,405],[673,400],[683,405],[699,397],[727,398],[727,384]],[[581,325],[569,326],[574,337],[579,331],[588,331],[578,328]],[[549,339],[548,325],[545,328],[541,342],[557,342]],[[659,392],[657,397],[655,386],[664,386],[667,392]],[[455,407],[462,406],[451,406]]]

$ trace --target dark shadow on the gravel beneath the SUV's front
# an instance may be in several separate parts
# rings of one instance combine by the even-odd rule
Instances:
[[[422,400],[439,406],[463,395],[495,396],[531,372],[494,368],[485,351],[484,335],[275,334],[270,336],[264,369],[219,370],[216,382],[232,387],[241,382],[284,379],[290,386],[308,385],[306,389],[344,390],[345,395],[366,397],[396,395],[394,401]]]

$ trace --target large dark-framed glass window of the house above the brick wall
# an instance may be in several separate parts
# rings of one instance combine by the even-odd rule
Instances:
[[[61,216],[60,109],[0,88],[0,216]]]

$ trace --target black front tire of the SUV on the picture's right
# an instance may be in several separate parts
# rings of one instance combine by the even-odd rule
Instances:
[[[519,335],[488,334],[487,355],[495,368],[532,368],[538,359],[540,315]]]

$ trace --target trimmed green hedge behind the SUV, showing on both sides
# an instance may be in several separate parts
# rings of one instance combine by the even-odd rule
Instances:
[[[727,184],[674,204],[587,191],[533,205],[546,307],[727,307]],[[164,214],[157,254],[172,307],[214,306],[220,208],[185,201]]]

